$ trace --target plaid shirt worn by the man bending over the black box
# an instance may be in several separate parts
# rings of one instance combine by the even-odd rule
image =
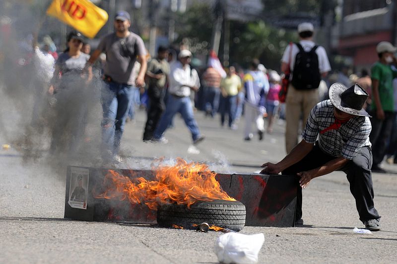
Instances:
[[[342,156],[353,159],[363,146],[371,146],[369,134],[371,123],[368,117],[354,116],[342,124],[338,130],[330,130],[320,134],[335,121],[331,100],[318,103],[310,113],[306,127],[302,132],[303,139],[311,144],[319,136],[319,147],[325,153],[333,156]]]

